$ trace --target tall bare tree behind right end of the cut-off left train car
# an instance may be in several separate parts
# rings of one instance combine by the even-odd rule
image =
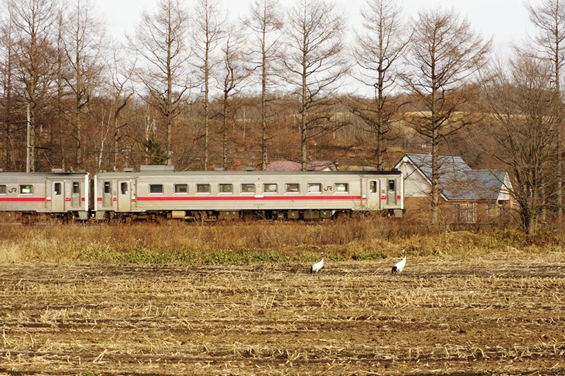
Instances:
[[[74,129],[76,133],[76,165],[83,167],[85,139],[83,112],[93,93],[101,85],[101,57],[105,41],[105,25],[90,0],[73,0],[69,19],[65,22],[64,48],[70,65],[65,81],[74,95]]]

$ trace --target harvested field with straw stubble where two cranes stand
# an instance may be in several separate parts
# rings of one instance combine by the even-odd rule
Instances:
[[[565,375],[565,255],[0,265],[1,375]]]

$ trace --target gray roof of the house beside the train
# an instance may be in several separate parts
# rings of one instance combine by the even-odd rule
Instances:
[[[431,155],[406,155],[431,182]],[[496,200],[504,187],[505,170],[473,170],[461,157],[438,158],[440,190],[449,200]]]

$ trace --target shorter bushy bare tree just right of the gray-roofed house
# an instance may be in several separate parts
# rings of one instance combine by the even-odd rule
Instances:
[[[483,90],[489,116],[481,128],[486,136],[482,150],[508,169],[511,195],[520,204],[529,239],[535,237],[544,204],[553,194],[551,164],[558,150],[553,74],[548,61],[518,52],[495,68]]]

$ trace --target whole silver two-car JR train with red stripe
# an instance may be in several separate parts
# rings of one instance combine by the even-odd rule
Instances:
[[[402,217],[404,177],[390,171],[0,172],[0,212],[66,220],[216,221]]]

